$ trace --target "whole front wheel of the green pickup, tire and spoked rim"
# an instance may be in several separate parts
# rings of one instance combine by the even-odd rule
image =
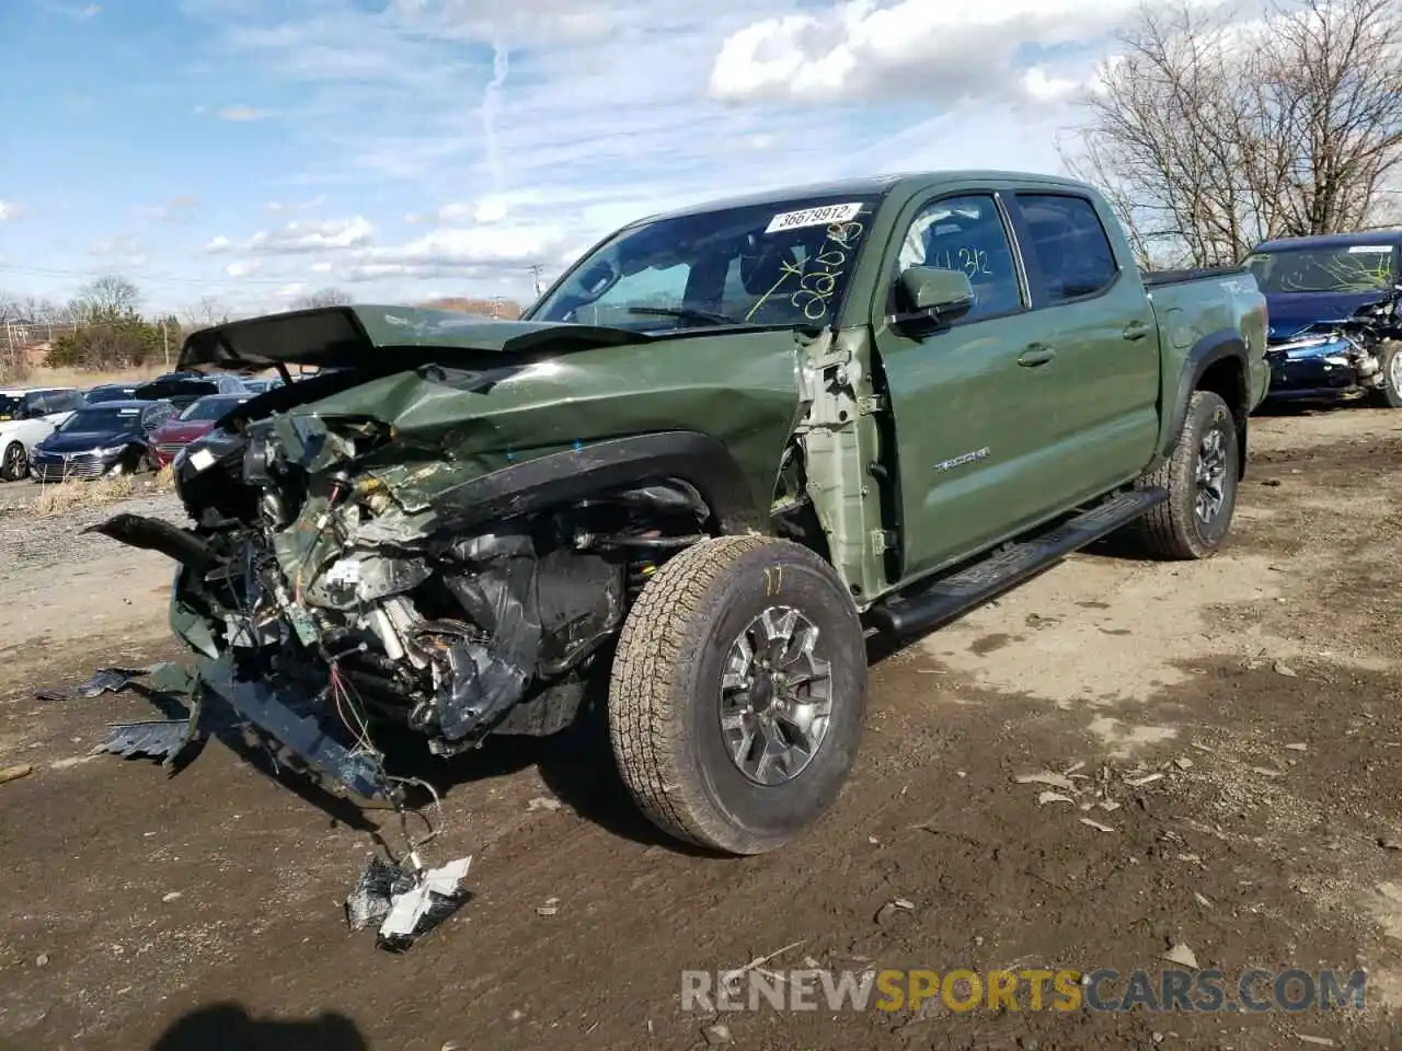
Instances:
[[[718,537],[669,559],[624,622],[614,760],[663,831],[736,855],[782,846],[847,781],[866,708],[851,596],[808,548]]]

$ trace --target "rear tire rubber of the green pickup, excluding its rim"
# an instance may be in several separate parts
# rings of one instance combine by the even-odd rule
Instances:
[[[1210,524],[1196,511],[1197,460],[1203,437],[1220,427],[1225,447],[1225,479],[1223,504]],[[1168,500],[1147,511],[1131,527],[1136,542],[1152,558],[1203,559],[1217,554],[1231,528],[1237,509],[1237,489],[1241,483],[1239,443],[1237,420],[1221,395],[1213,391],[1193,391],[1183,418],[1183,430],[1173,451],[1158,469],[1140,478],[1140,488],[1168,489]]]

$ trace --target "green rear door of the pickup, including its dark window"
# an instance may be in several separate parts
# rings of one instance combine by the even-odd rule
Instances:
[[[1154,308],[1129,258],[1119,261],[1091,198],[1019,191],[1008,202],[1032,290],[1032,315],[1054,350],[1049,441],[1070,504],[1134,478],[1158,440],[1159,346]]]

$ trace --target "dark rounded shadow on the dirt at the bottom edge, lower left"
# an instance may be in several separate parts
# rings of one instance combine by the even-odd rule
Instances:
[[[172,1022],[150,1051],[370,1051],[370,1044],[336,1012],[282,1022],[255,1019],[237,1003],[212,1003]]]

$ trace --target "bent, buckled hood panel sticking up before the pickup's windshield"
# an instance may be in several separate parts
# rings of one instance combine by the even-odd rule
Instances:
[[[192,332],[181,348],[179,369],[268,369],[276,364],[321,369],[451,364],[486,352],[529,353],[550,346],[645,343],[642,332],[543,321],[494,321],[450,310],[415,307],[318,307],[271,314]],[[407,348],[422,353],[405,356]],[[398,349],[394,353],[391,349]]]

